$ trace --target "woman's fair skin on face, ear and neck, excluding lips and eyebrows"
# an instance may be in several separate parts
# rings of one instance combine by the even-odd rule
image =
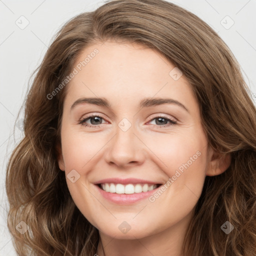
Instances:
[[[218,175],[230,164],[228,156],[208,149],[200,122],[199,106],[182,75],[174,80],[175,66],[159,52],[140,44],[105,41],[86,47],[77,59],[84,60],[94,48],[99,53],[69,82],[63,103],[58,165],[67,175],[75,169],[80,177],[66,178],[70,194],[81,213],[98,228],[99,255],[180,256],[186,228],[201,194],[206,175]],[[76,64],[77,64],[76,63]],[[75,65],[74,65],[75,67]],[[105,97],[111,109],[93,104],[72,103],[80,97]],[[169,97],[174,103],[139,108],[144,97]],[[79,120],[100,114],[86,127]],[[164,115],[176,120],[156,123]],[[127,131],[118,127],[126,118]],[[101,122],[101,123],[100,123]],[[161,127],[164,124],[168,127]],[[148,198],[118,205],[103,198],[93,184],[109,177],[135,177],[165,183],[177,168],[199,151],[200,156],[154,202]],[[122,233],[126,221],[131,229]]]

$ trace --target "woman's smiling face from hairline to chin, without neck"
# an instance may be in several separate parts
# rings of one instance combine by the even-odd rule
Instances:
[[[74,203],[115,238],[184,227],[212,174],[184,75],[155,50],[113,41],[86,47],[74,68],[58,158]]]

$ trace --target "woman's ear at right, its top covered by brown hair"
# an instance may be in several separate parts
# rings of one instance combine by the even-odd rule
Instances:
[[[215,176],[223,173],[231,163],[230,154],[221,154],[211,149],[209,156],[209,167],[205,173],[206,176]]]

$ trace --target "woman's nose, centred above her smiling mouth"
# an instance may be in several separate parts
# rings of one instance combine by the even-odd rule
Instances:
[[[142,164],[145,158],[145,145],[134,133],[134,125],[126,131],[120,127],[117,125],[115,135],[108,142],[105,160],[119,168]]]

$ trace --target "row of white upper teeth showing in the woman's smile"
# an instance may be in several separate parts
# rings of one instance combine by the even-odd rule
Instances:
[[[157,187],[156,184],[114,184],[114,183],[102,183],[101,188],[106,192],[117,194],[133,194],[140,192],[147,192]]]

